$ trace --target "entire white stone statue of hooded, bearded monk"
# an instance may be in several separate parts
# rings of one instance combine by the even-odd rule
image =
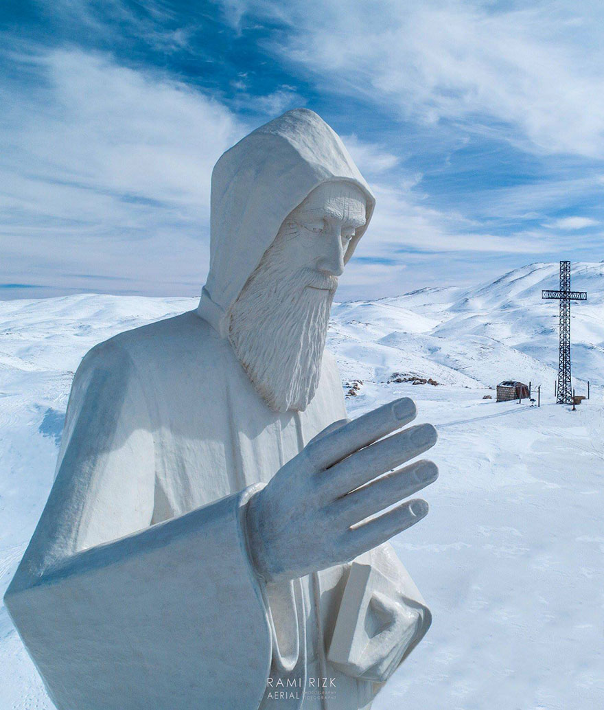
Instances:
[[[436,432],[406,398],[347,422],[324,352],[374,203],[336,133],[288,111],[216,163],[197,311],[84,357],[6,593],[58,709],[368,708],[426,632],[385,542],[436,466],[382,474]]]

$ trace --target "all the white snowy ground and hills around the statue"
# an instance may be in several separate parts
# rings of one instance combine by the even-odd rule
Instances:
[[[554,404],[557,265],[473,290],[423,290],[334,308],[329,346],[362,380],[357,415],[400,395],[439,430],[427,520],[394,540],[434,613],[376,710],[571,710],[604,706],[604,264],[578,265],[576,372],[592,397]],[[116,332],[192,299],[82,295],[0,302],[0,593],[53,479],[79,359]],[[442,386],[390,383],[393,372]],[[542,407],[483,395],[503,378],[542,384]],[[583,391],[583,383],[576,381]],[[0,710],[50,710],[4,607]]]

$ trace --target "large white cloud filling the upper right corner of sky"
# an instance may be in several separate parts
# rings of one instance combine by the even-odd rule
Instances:
[[[604,157],[604,7],[540,2],[499,9],[479,0],[229,1],[279,16],[282,61],[319,86],[363,96],[407,119],[458,121],[540,153]],[[280,35],[281,37],[282,35]],[[502,125],[503,124],[503,125]],[[510,131],[510,126],[514,131]]]

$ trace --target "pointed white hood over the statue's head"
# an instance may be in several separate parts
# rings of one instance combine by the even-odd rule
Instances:
[[[314,111],[293,109],[223,153],[212,172],[210,266],[197,313],[221,334],[226,317],[285,217],[322,182],[345,180],[367,197],[366,230],[375,197],[337,134]]]

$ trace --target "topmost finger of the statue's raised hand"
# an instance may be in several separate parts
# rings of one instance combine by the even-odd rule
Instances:
[[[403,397],[363,414],[304,449],[315,471],[322,471],[414,420],[413,400]]]

